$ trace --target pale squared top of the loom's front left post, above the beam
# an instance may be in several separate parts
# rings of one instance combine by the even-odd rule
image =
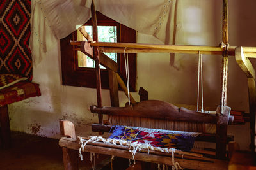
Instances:
[[[76,139],[74,124],[68,120],[60,120],[60,134]]]

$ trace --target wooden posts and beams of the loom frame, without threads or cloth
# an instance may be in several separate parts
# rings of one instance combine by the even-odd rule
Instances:
[[[124,52],[124,48],[126,48],[127,53],[147,53],[147,52],[168,52],[168,53],[202,53],[202,54],[220,54],[223,55],[223,67],[227,67],[228,55],[235,55],[236,61],[244,71],[246,76],[248,77],[248,87],[249,87],[249,99],[250,99],[250,113],[251,113],[251,129],[252,135],[255,134],[253,131],[255,126],[255,71],[248,60],[248,57],[256,57],[256,48],[253,47],[234,47],[230,46],[228,48],[228,31],[227,31],[227,0],[223,0],[223,43],[225,46],[182,46],[182,45],[147,45],[147,44],[134,44],[134,43],[99,43],[97,42],[97,20],[95,15],[95,7],[92,3],[92,20],[93,22],[93,38],[95,41],[84,32],[84,36],[88,41],[73,41],[71,42],[72,45],[80,45],[81,51],[91,57],[96,62],[96,75],[97,75],[97,107],[92,106],[91,111],[93,113],[99,113],[99,124],[93,125],[93,131],[101,131],[101,132],[108,132],[109,127],[107,125],[103,125],[102,120],[102,113],[109,113],[111,114],[112,111],[108,110],[108,108],[102,108],[102,100],[101,100],[101,87],[100,87],[100,68],[99,64],[102,64],[104,67],[108,69],[109,73],[109,89],[110,89],[110,96],[111,96],[111,106],[118,107],[118,83],[124,89],[125,94],[127,95],[127,88],[125,87],[124,82],[116,73],[117,65],[113,60],[109,59],[106,55],[102,52]],[[81,31],[83,32],[83,31]],[[92,49],[93,46],[93,49]],[[100,51],[100,52],[99,52]],[[222,73],[227,74],[227,73]],[[223,90],[223,89],[222,89]],[[225,95],[227,96],[227,95]],[[225,97],[225,101],[227,98]],[[160,101],[156,101],[160,102]],[[131,97],[131,103],[136,105],[136,101]],[[161,103],[161,102],[160,102]],[[152,103],[150,103],[152,104]],[[161,103],[166,104],[166,103]],[[156,104],[157,105],[157,104]],[[136,107],[134,107],[136,108]],[[133,109],[134,109],[133,108]],[[140,107],[138,107],[140,110]],[[127,108],[124,108],[127,109]],[[135,109],[136,110],[136,109]],[[121,110],[118,110],[121,111]],[[126,110],[127,111],[127,110]],[[129,111],[129,110],[128,110]],[[131,112],[132,113],[132,112]],[[114,113],[115,114],[115,113]],[[120,114],[120,113],[119,113]],[[125,114],[125,113],[124,113]],[[191,113],[192,116],[189,118],[194,117],[196,114],[193,112]],[[154,115],[154,114],[153,114]],[[140,115],[141,116],[141,115]],[[151,115],[152,116],[152,115]],[[196,115],[201,116],[201,115]],[[228,118],[223,117],[222,115],[215,115],[216,117],[212,118],[208,123],[216,122],[217,124],[217,132],[219,128],[219,134],[217,136],[206,136],[202,137],[204,140],[212,139],[221,145],[220,149],[216,149],[216,155],[219,158],[225,159],[226,153],[226,143],[228,141],[227,137],[227,124]],[[150,117],[150,116],[149,116]],[[208,116],[206,116],[208,117]],[[166,118],[166,117],[164,117]],[[179,120],[180,117],[176,119]],[[189,120],[189,118],[185,118]],[[207,118],[206,118],[207,119]],[[207,120],[204,120],[207,122]],[[173,120],[173,118],[172,118]],[[193,122],[193,121],[192,121]],[[68,121],[61,121],[61,134],[68,136],[63,137],[60,139],[60,146],[63,148],[63,160],[65,169],[77,169],[77,152],[80,148],[79,141],[76,139],[76,134],[74,130],[74,125]],[[254,132],[254,133],[253,133]],[[203,135],[204,136],[204,135]],[[254,137],[254,136],[253,136]],[[252,138],[253,143],[254,138]],[[218,146],[216,145],[216,146]],[[231,145],[230,145],[231,146]],[[254,146],[254,145],[253,145]],[[109,148],[110,147],[110,148]],[[112,147],[112,148],[111,148]],[[95,153],[102,153],[107,155],[115,155],[118,157],[124,158],[131,158],[131,153],[127,151],[127,148],[116,148],[111,145],[103,146],[100,145],[86,145],[85,148],[86,152],[95,152]],[[172,161],[170,161],[170,155],[166,154],[150,154],[138,152],[135,155],[136,160],[143,160],[146,162],[154,162],[154,163],[161,163],[161,164],[168,164],[172,165]],[[180,166],[187,167],[187,168],[195,168],[195,169],[227,169],[227,160],[218,160],[218,159],[208,159],[208,158],[200,158],[200,159],[193,159],[191,157],[185,157],[185,159],[175,158],[177,162],[179,162]],[[211,165],[212,164],[212,165]]]

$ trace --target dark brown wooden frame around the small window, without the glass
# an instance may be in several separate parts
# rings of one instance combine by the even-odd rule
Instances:
[[[136,31],[125,25],[119,24],[115,20],[102,15],[97,11],[97,24],[117,27],[117,41],[121,43],[136,43]],[[92,25],[88,20],[84,25]],[[70,45],[70,40],[76,40],[76,31],[69,34],[66,38],[60,40],[61,48],[61,73],[62,85],[76,87],[96,87],[95,69],[88,67],[78,67],[77,51],[74,45]],[[126,82],[124,53],[117,55],[118,73],[122,80]],[[100,69],[102,89],[109,89],[108,69]],[[136,91],[136,54],[129,53],[129,81],[130,90]],[[119,88],[119,90],[121,90]]]

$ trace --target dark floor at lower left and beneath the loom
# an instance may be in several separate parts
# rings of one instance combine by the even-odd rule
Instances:
[[[90,153],[85,153],[79,169],[92,169]],[[77,155],[78,157],[78,155]],[[111,158],[99,155],[95,169],[111,169]],[[113,169],[125,169],[129,161],[115,158]],[[0,149],[0,169],[63,169],[62,150],[57,139],[12,132],[12,148]]]

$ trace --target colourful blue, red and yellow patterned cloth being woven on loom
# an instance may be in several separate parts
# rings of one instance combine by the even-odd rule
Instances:
[[[132,143],[145,143],[154,147],[175,148],[188,152],[193,148],[198,134],[200,133],[116,126],[109,138],[122,139]]]

